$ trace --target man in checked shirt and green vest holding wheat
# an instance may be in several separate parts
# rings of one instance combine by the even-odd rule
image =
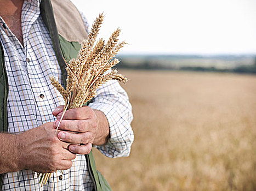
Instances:
[[[0,190],[110,190],[91,150],[129,155],[132,108],[119,83],[67,110],[55,134],[65,103],[49,76],[65,84],[62,56],[76,57],[87,35],[69,0],[0,0]],[[36,172],[54,173],[41,187]]]

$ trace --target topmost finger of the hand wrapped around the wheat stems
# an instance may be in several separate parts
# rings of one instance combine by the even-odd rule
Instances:
[[[57,116],[57,120],[60,120],[63,112],[60,112]],[[95,116],[95,113],[92,108],[89,106],[83,106],[82,108],[73,108],[67,110],[63,117],[63,120],[87,120]]]

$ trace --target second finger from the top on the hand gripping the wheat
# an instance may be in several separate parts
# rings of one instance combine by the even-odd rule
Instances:
[[[60,123],[60,124],[59,124]],[[88,132],[97,127],[96,120],[56,120],[54,122],[54,127],[59,130],[68,130],[70,132]]]

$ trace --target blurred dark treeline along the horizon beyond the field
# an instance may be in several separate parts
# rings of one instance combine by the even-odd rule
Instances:
[[[156,56],[155,56],[156,57]],[[160,56],[159,56],[160,57]],[[196,58],[198,58],[200,56],[196,56]],[[221,56],[217,57],[214,56],[212,59],[212,63],[211,65],[214,65],[214,60],[216,58],[218,58],[218,61],[221,59],[221,61],[223,61],[224,63],[226,62],[226,59],[234,59],[231,56]],[[157,60],[154,60],[152,62],[152,59],[140,59],[136,62],[136,60],[134,61],[133,57],[128,57],[128,56],[124,56],[123,58],[118,56],[118,58],[121,59],[121,62],[117,65],[117,68],[127,68],[127,69],[146,69],[146,70],[186,70],[186,71],[213,71],[213,72],[232,72],[232,73],[247,73],[247,74],[256,74],[256,57],[253,57],[254,59],[252,60],[252,64],[233,64],[232,67],[214,67],[214,66],[209,66],[209,64],[198,64],[197,65],[189,65],[189,64],[184,64],[180,63],[175,60],[176,62],[178,62],[178,64],[176,63],[175,65],[172,64],[172,60],[170,59],[170,64],[161,64],[161,60],[158,63]],[[162,57],[161,57],[162,58]],[[186,59],[194,59],[195,57],[192,56],[187,56]],[[223,59],[224,58],[224,59]],[[208,58],[207,59],[211,59]],[[241,59],[241,58],[240,58]],[[177,67],[178,65],[178,67]]]

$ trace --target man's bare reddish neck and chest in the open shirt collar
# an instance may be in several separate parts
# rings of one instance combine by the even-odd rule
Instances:
[[[0,0],[0,16],[23,45],[21,9],[24,0]]]

